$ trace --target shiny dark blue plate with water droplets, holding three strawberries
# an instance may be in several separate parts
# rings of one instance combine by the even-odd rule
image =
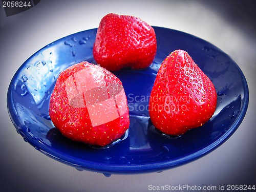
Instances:
[[[100,173],[141,173],[188,163],[220,146],[242,122],[249,101],[246,79],[238,65],[220,49],[196,36],[154,27],[157,54],[140,71],[121,70],[129,102],[131,125],[126,138],[109,148],[96,149],[63,137],[49,117],[49,98],[58,74],[74,63],[95,63],[92,47],[97,29],[81,31],[37,51],[15,73],[7,105],[17,132],[36,150],[77,169]],[[215,114],[203,126],[179,138],[163,136],[148,116],[148,96],[162,60],[183,49],[212,80],[218,92]]]

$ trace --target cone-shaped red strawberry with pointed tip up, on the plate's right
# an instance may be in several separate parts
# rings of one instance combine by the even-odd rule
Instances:
[[[188,53],[170,53],[159,68],[150,96],[155,127],[167,135],[182,135],[207,122],[216,105],[214,84]]]

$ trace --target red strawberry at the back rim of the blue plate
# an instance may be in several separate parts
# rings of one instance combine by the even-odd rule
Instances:
[[[99,24],[93,56],[101,67],[118,71],[150,66],[157,50],[154,29],[140,18],[107,14]]]

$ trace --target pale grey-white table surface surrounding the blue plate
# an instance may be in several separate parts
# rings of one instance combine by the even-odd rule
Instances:
[[[4,191],[148,191],[157,186],[179,185],[216,186],[217,189],[224,185],[226,189],[231,184],[256,184],[256,15],[252,1],[243,3],[55,0],[40,1],[35,7],[9,17],[1,7],[0,182]],[[250,101],[239,129],[224,144],[196,161],[161,173],[105,177],[100,173],[78,171],[49,158],[17,134],[7,112],[6,93],[19,66],[56,39],[97,28],[100,19],[110,12],[134,15],[152,26],[196,35],[216,45],[238,63],[247,79]]]

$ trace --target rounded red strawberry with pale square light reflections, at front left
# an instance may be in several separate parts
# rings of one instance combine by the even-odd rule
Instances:
[[[121,81],[87,61],[59,74],[49,115],[62,135],[90,145],[107,145],[129,128],[129,109]]]

